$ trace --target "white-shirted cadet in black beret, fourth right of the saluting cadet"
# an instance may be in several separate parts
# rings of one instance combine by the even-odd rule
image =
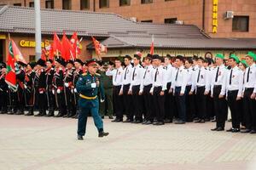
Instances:
[[[154,117],[156,122],[153,125],[163,125],[165,116],[165,91],[166,91],[166,70],[161,65],[161,59],[158,54],[153,55],[153,63],[155,69],[153,71],[154,81],[153,86],[150,89],[150,93],[153,94],[154,101]]]

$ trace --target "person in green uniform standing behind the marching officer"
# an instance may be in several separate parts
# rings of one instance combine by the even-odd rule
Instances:
[[[107,70],[108,63],[102,65],[102,68],[98,70],[98,73],[101,75],[101,82],[105,92],[105,101],[100,104],[100,113],[102,118],[104,118],[105,112],[107,111],[109,119],[113,119],[113,82],[112,77],[106,75]]]

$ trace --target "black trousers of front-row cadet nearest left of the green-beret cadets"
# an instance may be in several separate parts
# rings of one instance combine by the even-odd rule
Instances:
[[[198,111],[198,118],[206,119],[207,116],[207,96],[205,95],[205,86],[197,87],[195,94],[195,104]]]

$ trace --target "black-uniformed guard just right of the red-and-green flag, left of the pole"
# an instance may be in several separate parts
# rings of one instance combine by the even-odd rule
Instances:
[[[33,71],[36,63],[31,62],[26,65],[26,76],[24,81],[24,98],[25,104],[28,108],[28,112],[25,116],[33,116],[34,115],[34,105],[35,105],[35,86],[34,86],[34,78],[35,71]]]

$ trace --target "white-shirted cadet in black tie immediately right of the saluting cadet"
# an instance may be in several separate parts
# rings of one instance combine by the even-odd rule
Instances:
[[[132,98],[131,98],[131,94],[128,93],[130,85],[131,85],[131,75],[132,75],[131,56],[125,55],[124,77],[123,77],[123,81],[122,81],[122,88],[119,93],[120,95],[123,94],[123,98],[124,98],[125,114],[127,117],[125,122],[133,122],[133,113],[132,113],[132,105],[131,105]],[[123,119],[116,119],[113,121],[114,122],[122,122]]]

